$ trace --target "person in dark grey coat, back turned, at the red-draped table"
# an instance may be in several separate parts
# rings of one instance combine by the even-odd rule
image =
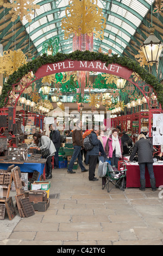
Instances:
[[[145,168],[147,165],[152,190],[156,191],[155,177],[153,172],[153,145],[143,134],[138,136],[129,161],[133,161],[136,153],[138,155],[138,163],[140,168],[140,190],[145,191],[146,188]]]

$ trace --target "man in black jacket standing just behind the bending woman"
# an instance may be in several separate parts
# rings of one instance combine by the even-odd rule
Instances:
[[[60,144],[61,144],[61,136],[60,136],[60,132],[57,129],[57,126],[55,124],[51,125],[51,129],[52,132],[50,133],[50,138],[52,139],[52,142],[54,143],[56,152],[54,155],[54,169],[59,168],[59,156],[58,156],[58,151],[60,148]]]

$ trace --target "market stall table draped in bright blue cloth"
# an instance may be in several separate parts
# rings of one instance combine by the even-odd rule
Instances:
[[[45,180],[45,174],[46,174],[46,162],[45,163],[21,163],[18,162],[1,162],[0,163],[0,169],[7,170],[11,164],[15,164],[15,166],[20,167],[21,172],[23,173],[33,173],[34,170],[37,170],[37,172],[40,173],[40,175],[43,175],[43,180]],[[40,180],[40,175],[38,180]]]

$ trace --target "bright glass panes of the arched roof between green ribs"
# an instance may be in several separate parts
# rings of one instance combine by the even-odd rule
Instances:
[[[14,0],[10,0],[10,2],[13,1]],[[104,16],[107,19],[104,40],[99,41],[99,45],[102,45],[104,49],[104,44],[110,45],[115,47],[117,51],[122,52],[118,45],[122,45],[122,48],[127,47],[127,42],[130,41],[129,35],[132,36],[135,34],[136,28],[141,25],[142,19],[148,13],[154,1],[155,0],[98,0],[98,7],[104,10]],[[29,34],[30,32],[30,39],[34,41],[35,47],[37,48],[39,46],[37,51],[39,53],[42,51],[40,44],[43,41],[57,35],[60,38],[60,48],[61,46],[72,44],[72,40],[64,40],[64,31],[61,29],[61,19],[65,17],[65,9],[68,6],[68,0],[49,0],[47,2],[45,0],[35,0],[33,3],[44,4],[40,5],[40,9],[36,9],[35,13],[31,15],[33,22],[29,24],[26,18],[23,17],[22,23],[24,26],[26,25],[27,33]],[[60,10],[58,8],[60,8]],[[57,11],[55,11],[56,9]],[[123,17],[123,19],[121,19],[121,17]],[[37,20],[38,18],[39,20]],[[48,22],[52,24],[48,24]],[[41,27],[41,29],[39,29],[39,27]],[[53,32],[53,29],[57,30]],[[42,36],[41,39],[40,36]],[[37,40],[37,38],[39,38],[39,40]],[[121,40],[121,38],[123,40]],[[114,44],[109,40],[115,41]],[[94,51],[98,51],[96,44],[95,46]],[[71,52],[72,47],[68,46],[67,49],[64,47],[64,50],[60,51]],[[108,51],[108,49],[106,51]],[[115,53],[117,52],[115,51]]]

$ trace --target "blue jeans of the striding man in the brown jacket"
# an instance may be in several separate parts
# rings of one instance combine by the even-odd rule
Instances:
[[[82,162],[82,154],[81,154],[81,148],[82,147],[81,146],[74,146],[73,148],[74,148],[74,151],[73,151],[72,159],[71,159],[70,164],[68,166],[67,172],[72,172],[73,164],[77,160],[77,158],[78,158],[79,166],[83,171],[83,170],[85,170],[85,167],[84,167],[83,162]]]

